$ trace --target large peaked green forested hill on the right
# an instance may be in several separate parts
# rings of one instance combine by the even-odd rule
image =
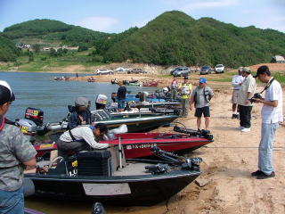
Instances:
[[[173,11],[114,44],[104,56],[111,62],[236,67],[269,62],[277,53],[285,55],[285,34],[277,30],[238,28],[210,18],[195,21]]]

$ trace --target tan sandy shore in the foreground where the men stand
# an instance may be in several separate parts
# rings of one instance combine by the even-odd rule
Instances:
[[[189,154],[203,159],[203,174],[199,178],[206,179],[208,185],[199,187],[192,183],[168,202],[153,207],[107,210],[110,213],[135,214],[285,213],[285,127],[280,126],[273,145],[276,177],[265,180],[251,177],[250,173],[257,169],[261,104],[253,109],[251,132],[241,133],[236,129],[239,120],[231,119],[231,93],[231,90],[216,92],[212,100],[210,129],[215,142]],[[188,128],[196,128],[193,114],[191,111],[187,119],[179,120]],[[167,132],[171,128],[158,128],[154,131]]]

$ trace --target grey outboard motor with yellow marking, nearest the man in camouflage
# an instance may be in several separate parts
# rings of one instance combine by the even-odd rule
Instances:
[[[29,137],[31,143],[36,142],[37,124],[30,119],[16,119],[16,122],[20,125],[21,132]]]

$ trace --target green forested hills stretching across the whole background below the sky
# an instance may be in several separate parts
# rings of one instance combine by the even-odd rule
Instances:
[[[223,63],[227,67],[237,67],[270,62],[273,55],[285,55],[285,34],[277,30],[253,26],[238,28],[211,18],[194,20],[178,11],[164,12],[141,29],[131,28],[119,34],[84,29],[61,21],[35,20],[12,25],[4,29],[2,35],[13,42],[38,38],[42,43],[85,45],[84,50],[92,50],[90,57],[102,59],[101,62]],[[12,54],[9,59],[15,59],[14,49],[7,53]]]

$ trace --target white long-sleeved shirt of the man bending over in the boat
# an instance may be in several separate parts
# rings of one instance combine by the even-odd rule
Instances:
[[[91,128],[89,127],[77,127],[77,128],[72,128],[71,130],[72,136],[77,141],[84,140],[87,144],[89,144],[92,148],[94,149],[105,149],[109,147],[109,144],[99,144],[95,141],[94,139],[94,134]],[[72,137],[69,135],[69,131],[64,132],[61,137],[61,141],[64,142],[72,142]]]

